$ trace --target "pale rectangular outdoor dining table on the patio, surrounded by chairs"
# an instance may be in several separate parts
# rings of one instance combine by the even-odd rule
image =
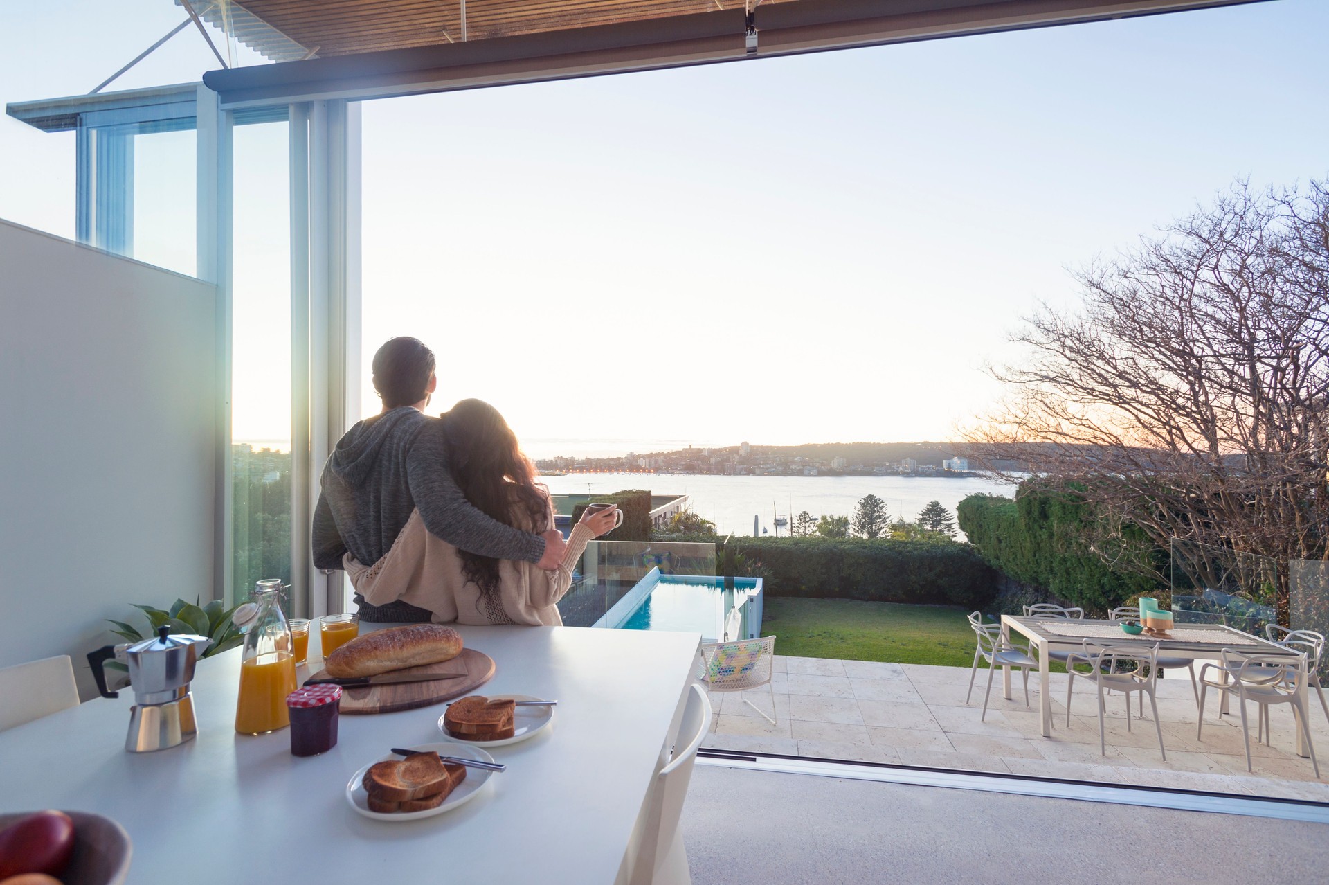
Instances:
[[[1030,640],[1030,647],[1038,650],[1038,712],[1043,738],[1053,736],[1053,700],[1047,692],[1047,678],[1051,666],[1049,652],[1075,651],[1078,648],[1083,648],[1086,639],[1102,644],[1131,646],[1142,651],[1147,651],[1158,644],[1160,655],[1197,658],[1201,660],[1219,660],[1224,648],[1231,648],[1232,651],[1239,651],[1247,655],[1285,656],[1288,658],[1288,662],[1294,663],[1302,674],[1302,679],[1300,679],[1297,684],[1300,686],[1298,691],[1302,694],[1301,708],[1306,710],[1306,680],[1304,678],[1306,666],[1305,655],[1293,648],[1280,646],[1278,643],[1269,642],[1268,639],[1261,639],[1260,637],[1249,633],[1243,633],[1241,630],[1227,625],[1179,623],[1172,627],[1171,639],[1156,639],[1144,634],[1127,634],[1122,630],[1122,623],[1119,621],[1095,621],[1092,618],[1021,618],[1017,615],[1002,615],[1002,639],[1010,642],[1011,630],[1026,637]],[[1221,675],[1221,679],[1223,682],[1228,680],[1225,672]],[[1221,695],[1219,699],[1219,710],[1221,712],[1227,712],[1228,692],[1224,691],[1219,694]],[[1002,667],[1002,696],[1006,700],[1011,699],[1010,667]],[[1297,730],[1297,753],[1301,756],[1310,755],[1300,728]]]

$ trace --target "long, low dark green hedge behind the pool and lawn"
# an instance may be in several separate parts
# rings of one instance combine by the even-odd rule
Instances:
[[[690,537],[688,541],[723,538]],[[728,549],[760,562],[775,597],[912,602],[977,609],[997,574],[969,545],[892,538],[731,538]]]

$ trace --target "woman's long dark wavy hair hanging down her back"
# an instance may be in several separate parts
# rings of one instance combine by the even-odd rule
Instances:
[[[466,500],[505,525],[537,532],[550,528],[549,492],[536,482],[536,466],[522,454],[498,409],[484,400],[461,400],[440,417],[448,468]],[[480,587],[489,619],[508,621],[498,599],[498,561],[457,553],[462,574]]]

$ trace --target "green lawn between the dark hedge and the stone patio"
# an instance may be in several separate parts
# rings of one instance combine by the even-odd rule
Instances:
[[[968,614],[956,606],[767,597],[762,633],[777,637],[777,655],[970,667],[975,639]],[[1057,662],[1051,670],[1066,672]]]

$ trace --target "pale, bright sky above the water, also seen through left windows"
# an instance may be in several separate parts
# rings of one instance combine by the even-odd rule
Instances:
[[[0,100],[86,92],[179,16],[106,5],[0,5]],[[416,335],[431,411],[480,396],[567,446],[956,439],[1070,268],[1236,178],[1329,173],[1325,33],[1276,0],[367,102],[364,373]],[[114,88],[214,66],[187,29]],[[280,439],[284,133],[246,137],[234,424]],[[72,234],[72,137],[0,121],[16,167],[0,217]]]

